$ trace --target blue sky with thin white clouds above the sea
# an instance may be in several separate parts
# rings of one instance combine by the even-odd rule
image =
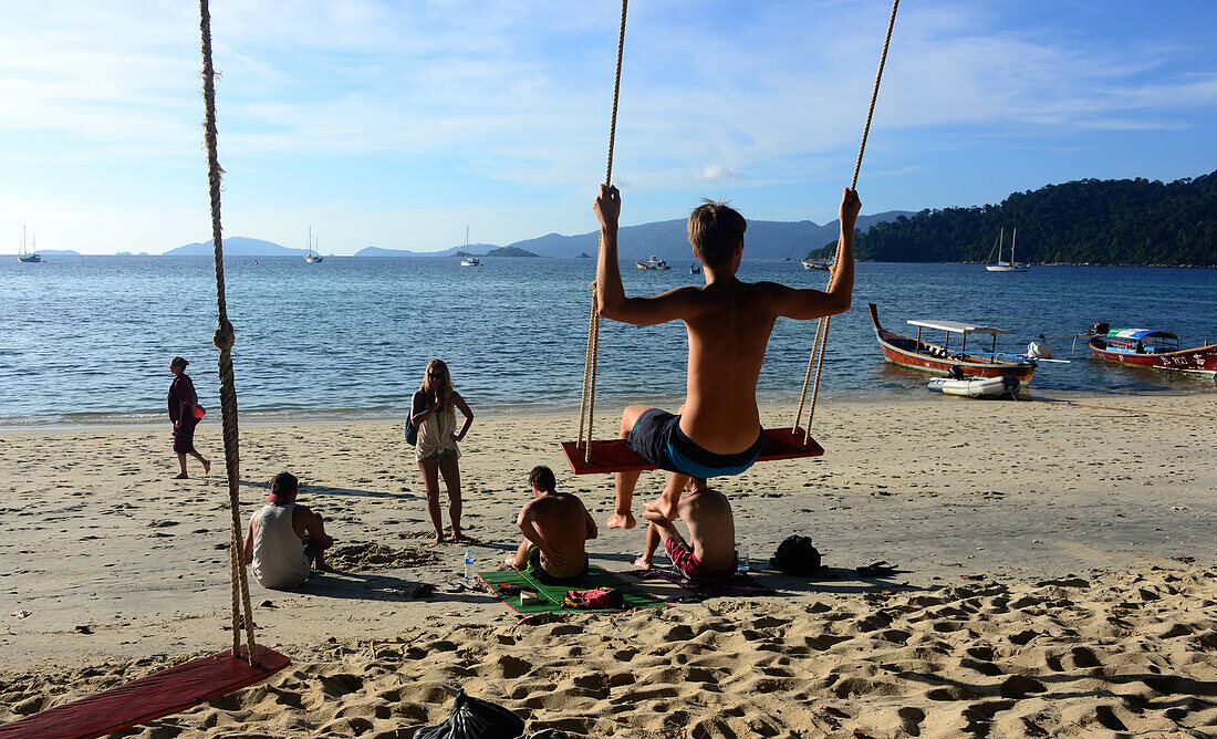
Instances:
[[[626,224],[727,197],[825,223],[886,1],[630,5]],[[0,252],[209,239],[197,6],[0,5]],[[619,4],[215,1],[225,234],[323,253],[594,230]],[[904,0],[863,212],[1217,169],[1217,2]],[[7,246],[6,246],[7,245]]]

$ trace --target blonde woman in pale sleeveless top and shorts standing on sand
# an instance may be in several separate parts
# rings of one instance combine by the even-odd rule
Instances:
[[[456,430],[456,409],[465,416],[465,424]],[[460,533],[460,468],[456,459],[460,449],[456,442],[462,441],[473,424],[473,412],[465,399],[453,390],[448,365],[441,359],[427,363],[427,374],[422,386],[410,401],[410,420],[419,429],[419,443],[414,457],[422,471],[422,482],[427,488],[427,513],[436,527],[436,544],[444,541],[444,522],[439,513],[439,476],[444,477],[448,488],[448,517],[453,524],[453,541],[459,542]]]

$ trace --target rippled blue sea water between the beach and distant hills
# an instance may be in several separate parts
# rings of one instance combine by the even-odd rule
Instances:
[[[403,415],[428,359],[439,357],[479,412],[577,408],[583,384],[594,259],[230,257],[228,314],[242,418]],[[692,262],[691,257],[688,262]],[[629,295],[700,284],[686,264],[622,269]],[[745,280],[823,289],[798,262],[745,261]],[[999,349],[1039,334],[1070,359],[1071,338],[1095,321],[1174,331],[1183,346],[1217,341],[1217,270],[859,263],[853,308],[831,321],[821,399],[922,397],[927,376],[885,364],[867,303],[885,327],[907,319],[969,320],[1009,329]],[[49,257],[0,261],[0,424],[163,419],[169,359],[191,362],[200,402],[219,410],[215,285],[206,257]],[[815,321],[780,319],[758,386],[762,402],[797,402]],[[927,336],[929,337],[929,336]],[[932,336],[938,341],[940,336]],[[953,338],[957,342],[958,337]],[[974,336],[969,347],[987,351]],[[953,343],[952,346],[958,346]],[[680,324],[602,321],[598,416],[626,403],[673,405],[684,394]],[[728,358],[724,358],[728,359]],[[1213,392],[1211,379],[1089,359],[1045,363],[1033,392]]]

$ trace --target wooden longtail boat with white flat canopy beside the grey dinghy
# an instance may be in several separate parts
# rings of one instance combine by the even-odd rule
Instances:
[[[970,377],[1016,377],[1022,382],[1031,380],[1037,363],[1025,354],[1006,354],[997,351],[998,334],[1009,334],[1005,329],[982,326],[978,324],[954,320],[910,320],[916,326],[916,337],[888,331],[879,324],[879,310],[875,303],[870,308],[870,320],[875,324],[875,336],[884,349],[884,358],[893,364],[925,370],[938,375],[949,375],[954,366]],[[930,343],[921,338],[924,329],[943,332],[942,345]],[[972,334],[985,334],[993,337],[988,352],[968,351],[968,337]],[[952,335],[961,336],[959,348],[950,347]],[[959,370],[955,370],[957,373]]]

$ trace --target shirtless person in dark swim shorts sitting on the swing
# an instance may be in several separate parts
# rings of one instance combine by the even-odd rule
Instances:
[[[690,477],[739,475],[761,454],[764,437],[756,386],[769,334],[779,317],[809,320],[845,313],[853,297],[853,226],[862,202],[848,187],[841,197],[841,237],[828,291],[735,276],[744,254],[744,217],[725,203],[706,201],[689,215],[689,242],[706,275],[703,287],[678,287],[654,297],[627,297],[617,263],[621,194],[601,185],[596,299],[601,317],[638,326],[684,321],[689,335],[686,397],[677,414],[630,405],[621,438],[651,464],[672,472],[647,511],[677,517],[680,491]],[[617,472],[617,502],[608,528],[633,528],[630,505],[639,472]]]

